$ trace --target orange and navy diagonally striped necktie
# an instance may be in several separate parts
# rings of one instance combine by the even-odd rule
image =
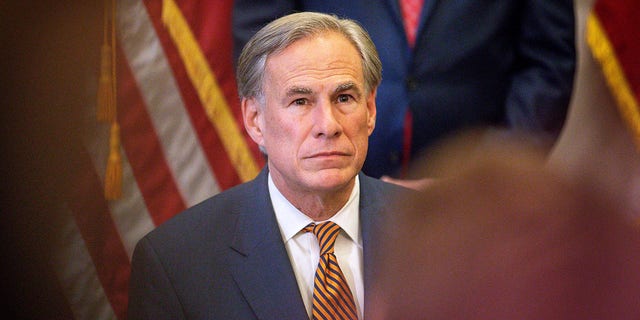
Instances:
[[[313,232],[320,244],[320,261],[313,286],[314,320],[358,318],[353,295],[333,253],[340,230],[340,226],[331,221],[311,223],[304,228],[305,232]]]

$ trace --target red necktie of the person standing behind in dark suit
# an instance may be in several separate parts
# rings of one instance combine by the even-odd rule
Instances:
[[[400,0],[400,9],[402,10],[402,20],[404,21],[404,30],[407,34],[407,42],[411,49],[416,43],[416,34],[420,25],[420,13],[424,0]],[[411,109],[407,108],[404,119],[404,144],[402,149],[402,176],[405,176],[411,158],[411,136],[413,131],[413,119]]]

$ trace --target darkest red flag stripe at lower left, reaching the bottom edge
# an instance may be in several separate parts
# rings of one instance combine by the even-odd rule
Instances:
[[[131,265],[103,197],[102,182],[96,174],[90,156],[84,149],[78,153],[80,167],[77,168],[73,180],[74,188],[69,208],[73,212],[111,307],[118,318],[124,319]]]

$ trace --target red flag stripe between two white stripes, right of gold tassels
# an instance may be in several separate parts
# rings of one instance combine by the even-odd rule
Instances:
[[[118,55],[118,61],[126,62],[122,52]],[[120,63],[118,74],[118,122],[122,145],[147,210],[154,223],[160,225],[186,206],[129,65]]]

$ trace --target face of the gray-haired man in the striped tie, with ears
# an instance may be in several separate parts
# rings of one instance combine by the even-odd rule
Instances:
[[[243,103],[252,138],[285,194],[351,190],[375,126],[361,58],[342,35],[299,40],[267,59],[264,106]]]

